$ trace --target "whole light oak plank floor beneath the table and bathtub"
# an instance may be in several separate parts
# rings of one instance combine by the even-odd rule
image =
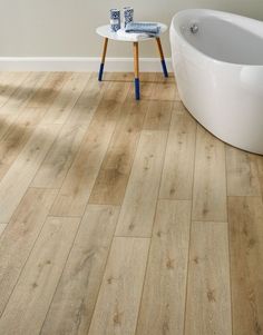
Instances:
[[[142,90],[0,73],[0,335],[263,334],[263,157]]]

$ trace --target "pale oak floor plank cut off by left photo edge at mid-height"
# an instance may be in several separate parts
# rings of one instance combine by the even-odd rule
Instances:
[[[0,183],[0,221],[8,223],[58,132],[57,125],[38,127]]]

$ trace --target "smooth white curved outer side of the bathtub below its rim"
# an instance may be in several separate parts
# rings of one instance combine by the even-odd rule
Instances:
[[[185,107],[223,141],[263,155],[263,66],[227,63],[203,55],[184,39],[181,23],[175,17],[171,45]]]

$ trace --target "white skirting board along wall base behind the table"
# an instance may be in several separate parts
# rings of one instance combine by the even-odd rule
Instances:
[[[172,71],[172,60],[166,59]],[[0,71],[98,71],[100,58],[97,57],[0,57]],[[162,71],[158,58],[140,58],[142,72]],[[130,72],[133,58],[107,58],[105,71]]]

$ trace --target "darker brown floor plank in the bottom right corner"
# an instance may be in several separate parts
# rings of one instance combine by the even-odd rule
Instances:
[[[263,204],[261,197],[230,197],[233,334],[263,331]]]

